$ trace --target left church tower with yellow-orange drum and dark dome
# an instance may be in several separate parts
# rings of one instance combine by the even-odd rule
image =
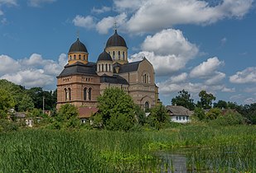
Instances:
[[[79,38],[70,46],[69,54],[68,54],[68,62],[69,65],[80,62],[80,63],[88,63],[88,51],[85,47],[85,44],[81,43]]]

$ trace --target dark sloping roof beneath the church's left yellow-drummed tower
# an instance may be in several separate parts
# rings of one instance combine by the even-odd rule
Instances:
[[[60,72],[60,75],[58,77],[64,77],[69,76],[71,74],[91,74],[91,75],[97,75],[96,74],[96,63],[80,63],[75,62],[73,64],[67,64],[64,67],[64,70]]]

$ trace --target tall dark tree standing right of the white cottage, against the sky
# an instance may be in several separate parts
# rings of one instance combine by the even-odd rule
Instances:
[[[205,90],[200,91],[198,96],[200,97],[200,101],[197,102],[197,105],[203,109],[210,109],[212,101],[216,99],[215,96],[208,94]]]

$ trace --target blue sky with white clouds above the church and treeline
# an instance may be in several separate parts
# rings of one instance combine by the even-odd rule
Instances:
[[[182,89],[256,102],[255,0],[0,0],[0,78],[55,90],[77,35],[96,62],[114,23],[164,105]]]

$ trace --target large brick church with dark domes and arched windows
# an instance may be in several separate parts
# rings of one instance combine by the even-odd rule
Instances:
[[[118,87],[142,109],[157,105],[155,72],[147,58],[128,62],[128,46],[118,31],[110,36],[96,63],[79,38],[71,44],[68,63],[57,77],[57,109],[70,103],[76,107],[97,107],[97,97],[109,87]]]

